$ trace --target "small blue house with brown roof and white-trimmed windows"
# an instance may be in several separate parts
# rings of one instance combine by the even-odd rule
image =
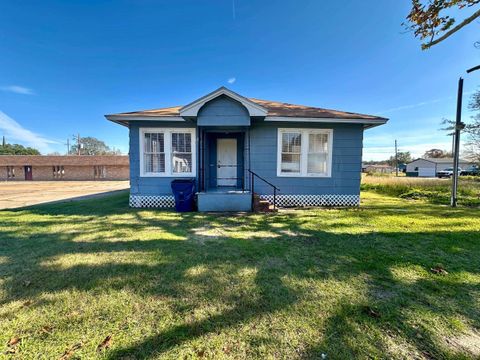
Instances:
[[[387,119],[243,97],[225,87],[185,106],[106,115],[130,130],[130,206],[172,207],[195,179],[200,211],[358,206],[365,129]]]

